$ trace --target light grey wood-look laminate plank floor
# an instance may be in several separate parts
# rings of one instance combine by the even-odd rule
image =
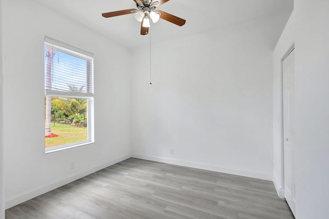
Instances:
[[[273,183],[129,158],[6,210],[6,218],[294,218]]]

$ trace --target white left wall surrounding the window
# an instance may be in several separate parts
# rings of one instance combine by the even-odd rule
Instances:
[[[4,0],[6,208],[131,155],[130,51],[34,1]],[[95,144],[45,154],[44,36],[94,53]],[[70,163],[75,169],[70,170]]]

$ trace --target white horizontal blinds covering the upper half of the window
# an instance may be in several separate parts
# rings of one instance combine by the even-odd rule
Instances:
[[[93,54],[45,38],[45,92],[90,96],[93,88]]]

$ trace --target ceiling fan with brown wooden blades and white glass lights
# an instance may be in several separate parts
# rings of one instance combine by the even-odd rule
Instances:
[[[166,21],[169,21],[173,24],[176,24],[178,26],[185,25],[185,19],[181,19],[179,17],[176,17],[172,14],[169,14],[164,11],[156,10],[156,6],[160,6],[162,4],[165,4],[169,0],[133,0],[136,3],[137,10],[136,9],[127,9],[122,11],[113,11],[113,12],[107,12],[102,13],[103,17],[115,17],[119,15],[124,14],[135,14],[135,19],[138,22],[141,22],[140,27],[140,34],[141,35],[147,35],[149,33],[149,27],[150,25],[150,17],[152,19],[153,23],[157,23],[159,21],[159,18],[164,19]]]

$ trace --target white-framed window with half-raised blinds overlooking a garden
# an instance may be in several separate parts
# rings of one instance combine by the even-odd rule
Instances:
[[[93,54],[45,37],[45,151],[94,142]]]

